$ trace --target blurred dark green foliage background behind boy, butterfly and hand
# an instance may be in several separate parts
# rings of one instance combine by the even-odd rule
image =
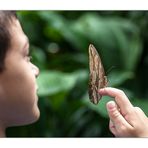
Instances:
[[[148,115],[147,11],[18,11],[40,68],[40,119],[7,129],[8,137],[113,137],[103,97],[88,98],[88,46],[97,48],[109,86]]]

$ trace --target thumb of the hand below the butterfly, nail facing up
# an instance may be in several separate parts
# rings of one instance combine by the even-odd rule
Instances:
[[[120,130],[121,128],[123,128],[123,126],[126,126],[126,127],[130,126],[130,124],[124,119],[124,117],[120,113],[114,101],[108,102],[106,107],[107,107],[110,120],[114,124],[114,127],[116,130]]]

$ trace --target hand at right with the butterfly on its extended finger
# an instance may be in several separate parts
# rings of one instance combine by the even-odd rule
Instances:
[[[148,137],[148,118],[139,107],[134,107],[125,93],[106,87],[99,94],[113,97],[106,108],[109,114],[109,128],[117,137]]]

